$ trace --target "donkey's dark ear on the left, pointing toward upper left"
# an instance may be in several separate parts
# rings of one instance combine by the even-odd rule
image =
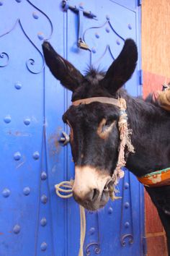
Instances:
[[[61,81],[61,84],[69,90],[76,90],[84,80],[84,76],[73,65],[57,54],[54,48],[44,41],[42,50],[45,62],[50,68],[52,74]]]

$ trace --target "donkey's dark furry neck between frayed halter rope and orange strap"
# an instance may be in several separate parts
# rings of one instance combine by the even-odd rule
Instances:
[[[135,153],[128,155],[127,168],[143,176],[170,167],[170,114],[151,102],[128,95],[124,98],[135,148]]]

